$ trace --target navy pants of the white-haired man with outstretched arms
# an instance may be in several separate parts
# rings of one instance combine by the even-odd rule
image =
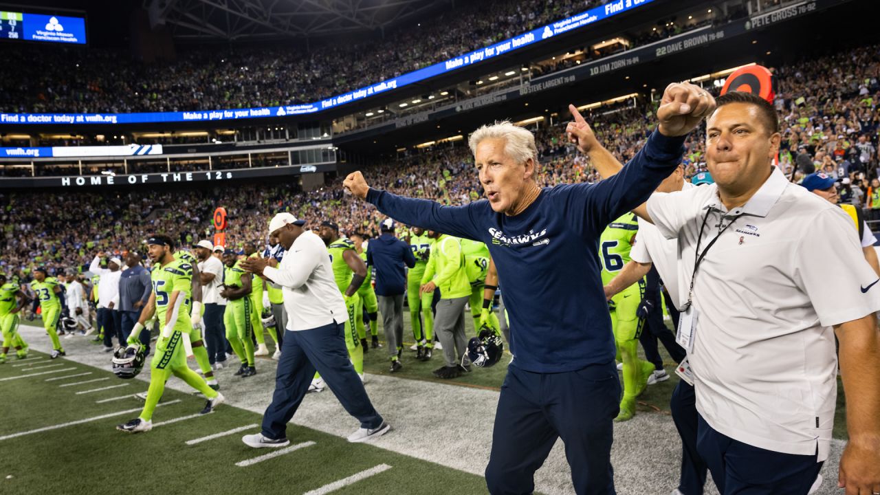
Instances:
[[[489,493],[532,493],[535,471],[561,438],[577,495],[613,495],[612,425],[619,403],[614,361],[568,373],[532,373],[511,363],[495,413]]]

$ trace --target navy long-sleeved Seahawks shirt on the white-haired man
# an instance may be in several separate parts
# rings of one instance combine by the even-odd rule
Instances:
[[[488,200],[442,206],[372,188],[367,201],[404,224],[485,242],[504,287],[511,366],[534,373],[576,371],[614,359],[599,236],[671,174],[684,141],[655,131],[618,174],[595,184],[543,188],[516,216],[493,211]]]

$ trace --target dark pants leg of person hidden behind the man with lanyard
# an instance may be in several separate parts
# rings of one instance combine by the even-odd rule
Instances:
[[[681,477],[678,491],[684,495],[702,495],[708,468],[697,452],[697,395],[693,386],[679,380],[669,403],[672,421],[681,437]]]

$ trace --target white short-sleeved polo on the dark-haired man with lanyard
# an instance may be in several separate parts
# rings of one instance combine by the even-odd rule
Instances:
[[[730,225],[693,285],[697,324],[688,357],[697,410],[732,439],[787,454],[818,452],[824,461],[837,396],[831,327],[880,310],[880,284],[847,214],[778,169],[733,211],[717,191],[711,184],[648,201],[660,232],[678,237],[684,301],[703,218],[700,252]]]

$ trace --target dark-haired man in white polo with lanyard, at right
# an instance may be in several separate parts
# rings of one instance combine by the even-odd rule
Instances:
[[[840,370],[847,494],[880,493],[880,280],[840,208],[771,165],[774,107],[729,92],[707,123],[715,184],[655,194],[637,212],[678,239],[697,448],[724,493],[803,495],[827,459]]]

